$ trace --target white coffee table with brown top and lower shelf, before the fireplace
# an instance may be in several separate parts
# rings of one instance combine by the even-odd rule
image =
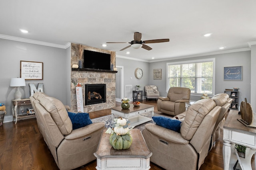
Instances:
[[[151,121],[152,118],[142,116],[143,113],[151,112],[151,117],[154,116],[154,106],[141,103],[140,106],[134,106],[130,104],[129,109],[123,109],[121,106],[111,108],[112,123],[114,123],[114,115],[118,115],[130,122],[129,128],[132,126],[137,126],[147,121]]]

